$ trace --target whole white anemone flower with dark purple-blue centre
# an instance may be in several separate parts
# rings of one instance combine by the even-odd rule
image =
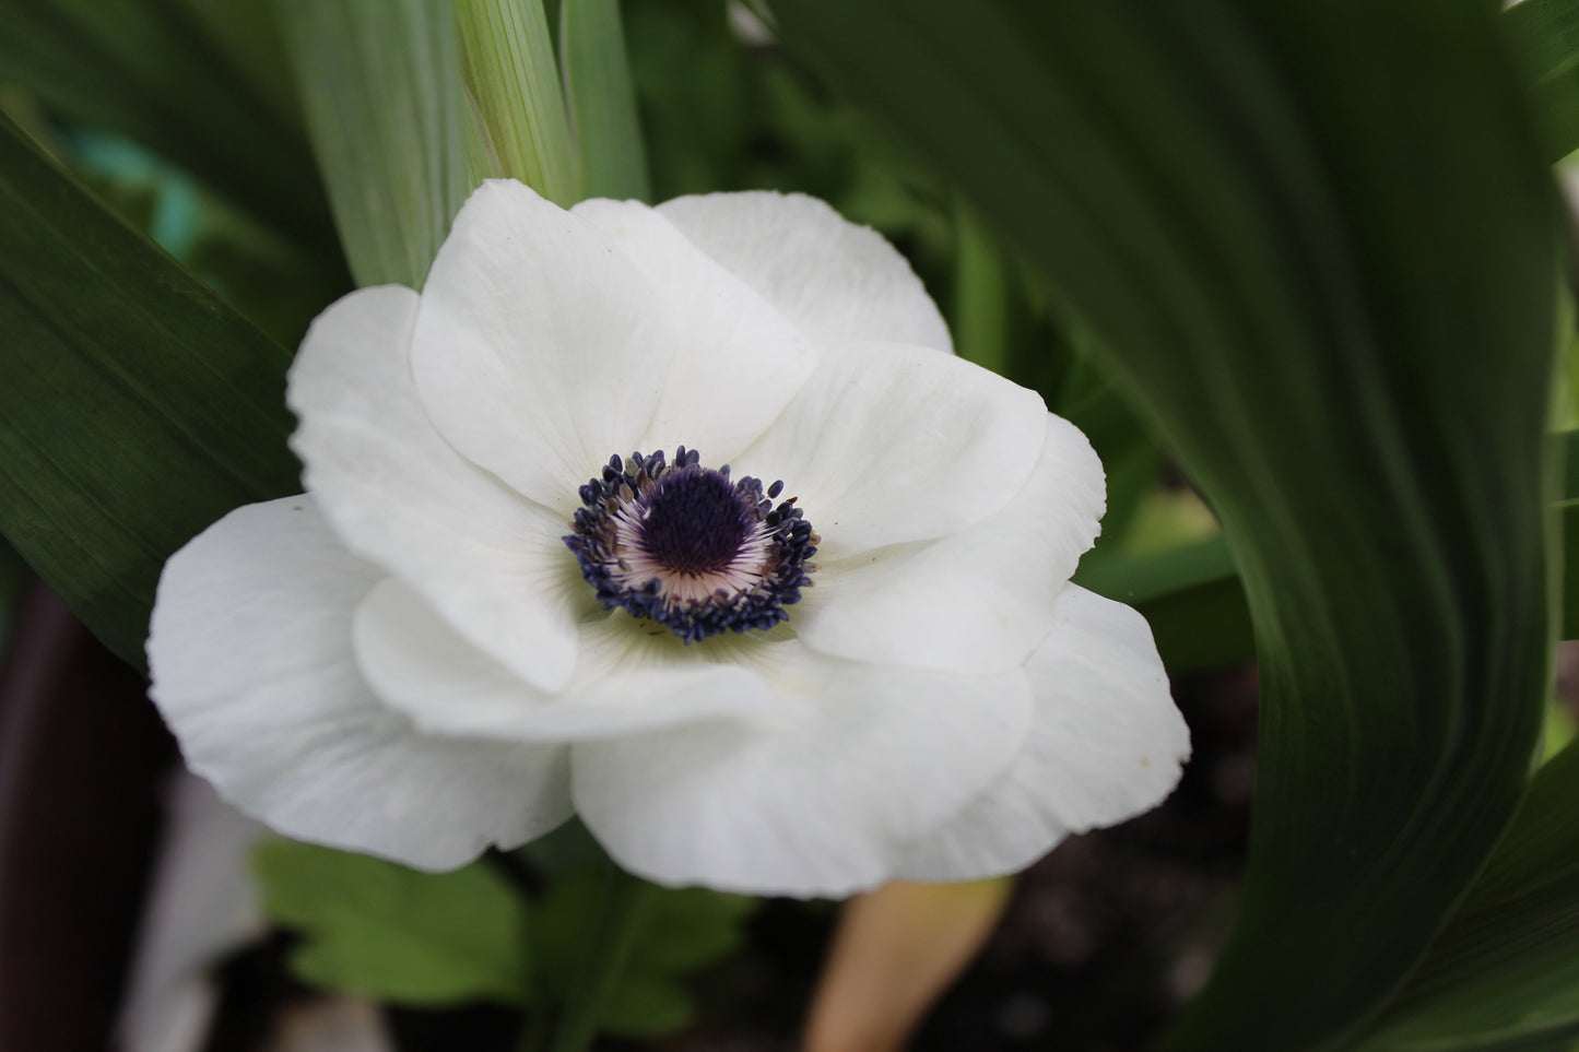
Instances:
[[[1178,780],[1146,622],[1067,583],[1091,445],[815,199],[489,182],[289,401],[306,494],[182,548],[148,638],[188,765],[283,834],[448,869],[575,813],[658,883],[843,896]]]

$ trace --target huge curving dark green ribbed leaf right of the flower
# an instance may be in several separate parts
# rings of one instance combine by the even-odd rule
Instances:
[[[1558,223],[1495,13],[774,13],[1041,265],[1241,569],[1263,692],[1247,880],[1164,1047],[1341,1041],[1475,877],[1543,712]]]

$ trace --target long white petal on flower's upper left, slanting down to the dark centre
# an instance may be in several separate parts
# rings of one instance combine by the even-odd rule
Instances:
[[[556,689],[576,657],[579,581],[564,518],[456,453],[411,378],[417,294],[362,289],[324,311],[291,368],[291,445],[335,532],[422,592],[518,676]]]

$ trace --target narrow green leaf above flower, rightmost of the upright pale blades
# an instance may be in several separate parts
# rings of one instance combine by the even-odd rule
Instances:
[[[619,0],[561,0],[559,54],[581,148],[581,196],[651,201]]]

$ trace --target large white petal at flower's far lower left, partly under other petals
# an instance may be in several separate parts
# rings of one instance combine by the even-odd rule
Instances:
[[[237,509],[175,553],[148,670],[188,766],[286,836],[422,869],[564,821],[562,749],[428,738],[368,690],[351,618],[382,577],[305,496]]]

